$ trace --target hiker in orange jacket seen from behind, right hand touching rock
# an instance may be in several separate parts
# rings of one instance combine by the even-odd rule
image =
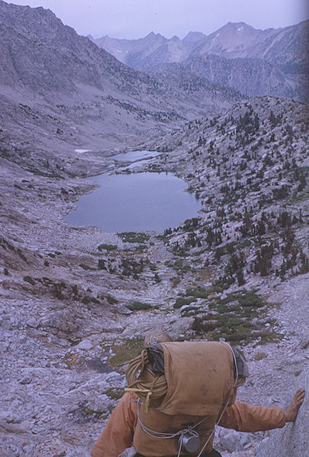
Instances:
[[[158,343],[165,343],[171,342],[172,339],[166,333],[155,332],[151,333],[147,336],[144,340],[144,348],[152,347],[153,344]],[[199,343],[196,343],[199,344]],[[203,344],[203,343],[202,343]],[[211,342],[210,342],[211,344]],[[220,344],[220,343],[214,343]],[[168,343],[167,343],[168,346]],[[154,346],[155,347],[155,346]],[[219,348],[220,349],[220,348]],[[220,349],[221,350],[221,349]],[[235,359],[234,359],[235,361]],[[240,384],[241,385],[241,384]],[[284,427],[286,422],[293,422],[297,417],[297,412],[301,403],[304,401],[304,389],[299,389],[295,393],[293,400],[290,402],[288,408],[284,411],[282,408],[278,406],[274,406],[273,408],[266,408],[266,406],[253,406],[249,405],[248,403],[244,403],[244,401],[234,401],[235,398],[232,400],[233,403],[229,404],[225,411],[220,417],[220,421],[218,425],[221,427],[230,428],[233,430],[237,430],[239,432],[258,432],[264,430],[271,430],[277,427]],[[133,438],[134,441],[137,441],[138,438],[141,436],[141,430],[139,429],[139,421],[138,414],[141,415],[141,410],[139,410],[139,396],[137,392],[132,390],[126,392],[123,397],[117,403],[115,410],[111,414],[106,427],[104,428],[102,434],[96,441],[95,446],[93,447],[91,456],[92,457],[133,457],[133,456],[141,456],[141,454],[137,453],[137,450],[133,446]],[[144,403],[141,403],[144,404]],[[155,412],[155,408],[150,408]],[[156,414],[161,414],[161,417],[164,417],[165,414],[157,412]],[[144,414],[144,417],[145,414]],[[170,417],[170,420],[172,418]],[[207,418],[206,418],[207,419]],[[218,419],[218,418],[217,418]],[[143,424],[141,424],[143,426]],[[211,427],[214,429],[214,426],[211,424]],[[150,430],[150,429],[146,429]],[[151,429],[152,430],[152,429]],[[143,433],[142,433],[143,434]],[[212,434],[212,433],[211,433]],[[150,434],[151,435],[151,434]],[[145,438],[146,437],[146,438]],[[143,438],[143,436],[142,436]],[[144,440],[153,440],[159,437],[154,436],[147,436],[144,434]],[[183,438],[182,438],[183,439]],[[189,437],[192,442],[194,441],[194,436]],[[212,449],[212,439],[213,436],[209,435],[209,445],[207,445],[205,452],[201,454],[203,457],[215,457],[220,456],[220,454],[215,450]],[[161,448],[165,447],[165,443],[171,440],[161,439],[163,444]],[[208,441],[207,441],[208,443]],[[206,444],[207,444],[206,443]],[[152,447],[153,454],[146,455],[157,455],[157,456],[170,456],[172,454],[158,454],[157,445],[150,444],[150,448]],[[156,446],[156,447],[155,447]],[[162,447],[163,446],[163,447]],[[181,447],[181,445],[180,445]],[[147,448],[147,446],[146,446]],[[144,447],[144,449],[146,449]],[[145,455],[145,454],[143,454]],[[175,454],[175,457],[177,452]],[[179,454],[180,455],[180,454]],[[190,455],[190,454],[187,454]],[[192,454],[191,454],[192,455]],[[198,452],[195,452],[194,455],[198,455]]]

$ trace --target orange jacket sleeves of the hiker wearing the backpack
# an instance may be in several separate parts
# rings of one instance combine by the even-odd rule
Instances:
[[[117,457],[132,445],[137,423],[137,398],[134,392],[126,392],[119,400],[93,447],[91,457]],[[227,407],[219,425],[238,432],[258,432],[283,427],[285,423],[286,415],[278,406],[266,408],[235,401]]]

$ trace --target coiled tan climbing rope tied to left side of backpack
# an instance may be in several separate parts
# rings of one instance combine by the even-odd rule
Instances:
[[[156,376],[148,368],[149,360],[146,349],[141,351],[137,357],[127,362],[129,364],[126,371],[126,380],[128,382],[128,387],[124,388],[126,392],[136,392],[146,395],[145,401],[145,410],[148,412],[148,406],[151,399],[159,399],[165,395],[168,391],[168,384],[164,375]],[[150,382],[146,382],[144,379],[141,379],[141,375],[144,373],[145,369],[149,370],[154,379]]]

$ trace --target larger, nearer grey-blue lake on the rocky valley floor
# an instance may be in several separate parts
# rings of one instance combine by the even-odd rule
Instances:
[[[96,225],[104,232],[157,231],[194,218],[201,203],[184,192],[185,181],[171,173],[101,174],[100,188],[82,196],[66,221]]]

